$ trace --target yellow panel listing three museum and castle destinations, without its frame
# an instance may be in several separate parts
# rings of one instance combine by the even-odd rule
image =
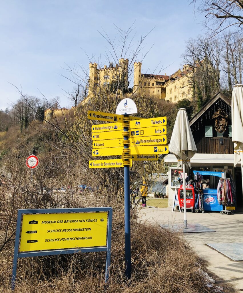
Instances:
[[[23,215],[21,251],[106,246],[107,212]]]

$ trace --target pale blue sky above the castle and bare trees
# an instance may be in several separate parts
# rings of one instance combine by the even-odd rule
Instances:
[[[98,30],[103,28],[113,39],[114,24],[126,30],[135,21],[135,45],[141,34],[156,26],[144,43],[144,53],[155,44],[142,63],[142,72],[171,64],[161,74],[172,74],[182,64],[185,40],[203,33],[204,16],[195,16],[188,4],[187,0],[2,0],[0,109],[9,108],[20,96],[8,82],[21,84],[28,95],[41,97],[41,91],[48,99],[59,96],[62,107],[71,106],[61,90],[71,91],[74,86],[61,76],[69,76],[65,64],[78,63],[88,69],[85,51],[93,60],[101,57],[102,66],[108,65],[107,42]]]

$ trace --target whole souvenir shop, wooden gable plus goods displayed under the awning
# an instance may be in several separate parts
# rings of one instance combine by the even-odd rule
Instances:
[[[217,93],[189,124],[197,147],[197,153],[190,160],[192,168],[186,174],[195,194],[194,210],[243,211],[241,166],[234,167],[231,101],[221,92]],[[168,204],[172,207],[175,190],[182,184],[182,174],[173,154],[164,157],[164,162],[169,167]]]

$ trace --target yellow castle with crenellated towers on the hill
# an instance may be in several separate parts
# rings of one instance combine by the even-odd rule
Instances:
[[[178,69],[171,75],[144,74],[142,62],[135,62],[133,93],[156,96],[172,103],[185,98],[192,100],[191,72],[189,64],[185,64],[182,70]],[[119,59],[119,64],[113,66],[110,63],[104,68],[98,68],[97,63],[89,63],[89,95],[111,86],[118,79],[125,81],[122,85],[128,88],[128,59]]]

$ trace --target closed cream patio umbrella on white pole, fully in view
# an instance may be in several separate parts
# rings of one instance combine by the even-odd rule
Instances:
[[[180,108],[170,139],[169,151],[178,160],[177,166],[183,170],[183,195],[184,195],[184,227],[187,228],[187,209],[186,209],[186,176],[185,165],[191,168],[190,159],[197,152],[197,147],[192,136],[186,109]]]

